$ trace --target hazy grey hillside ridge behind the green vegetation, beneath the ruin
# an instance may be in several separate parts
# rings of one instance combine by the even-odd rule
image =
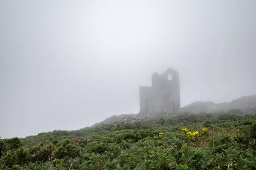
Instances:
[[[234,109],[239,113],[233,112]],[[232,102],[224,102],[215,104],[214,102],[193,102],[189,105],[184,106],[180,109],[179,112],[176,113],[161,113],[161,114],[122,114],[118,116],[111,116],[102,122],[94,124],[92,127],[102,125],[102,124],[111,124],[114,122],[123,122],[123,123],[134,123],[136,121],[146,121],[153,119],[163,118],[171,118],[173,116],[180,115],[181,113],[235,113],[237,115],[245,115],[245,114],[254,114],[256,112],[256,96],[243,96],[239,99],[235,99]]]

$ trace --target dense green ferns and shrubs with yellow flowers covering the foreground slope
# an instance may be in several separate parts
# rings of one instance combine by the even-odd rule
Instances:
[[[0,169],[256,169],[256,115],[183,114],[0,139]]]

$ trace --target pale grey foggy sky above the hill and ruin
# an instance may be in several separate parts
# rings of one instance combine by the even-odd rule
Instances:
[[[256,94],[256,1],[1,0],[0,136],[139,112],[139,85],[180,73],[181,106]]]

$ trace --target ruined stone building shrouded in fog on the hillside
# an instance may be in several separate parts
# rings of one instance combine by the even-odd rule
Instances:
[[[180,76],[168,68],[152,74],[152,87],[140,86],[140,113],[170,113],[180,109]]]

